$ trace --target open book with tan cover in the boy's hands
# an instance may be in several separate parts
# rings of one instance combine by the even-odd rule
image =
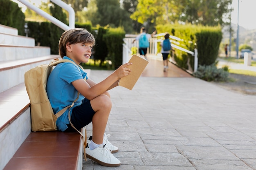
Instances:
[[[138,55],[132,55],[129,62],[132,64],[127,67],[132,71],[130,72],[130,75],[119,79],[118,85],[132,90],[133,86],[148,65],[148,60],[146,60],[144,57],[139,57]]]

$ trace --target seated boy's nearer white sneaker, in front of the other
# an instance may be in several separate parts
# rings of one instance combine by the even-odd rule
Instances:
[[[101,145],[93,150],[90,150],[88,144],[85,148],[86,157],[99,163],[102,166],[115,167],[120,166],[121,162],[106,148],[105,145]]]

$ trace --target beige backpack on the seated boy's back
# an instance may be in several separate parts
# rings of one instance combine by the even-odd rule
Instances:
[[[57,118],[60,117],[68,108],[74,106],[74,102],[76,102],[79,97],[78,93],[76,100],[70,106],[63,108],[54,115],[46,93],[46,84],[47,79],[53,70],[53,66],[56,66],[61,62],[70,62],[77,66],[71,60],[54,59],[54,61],[49,65],[43,64],[36,66],[25,73],[25,86],[30,100],[31,129],[34,132],[57,130]]]

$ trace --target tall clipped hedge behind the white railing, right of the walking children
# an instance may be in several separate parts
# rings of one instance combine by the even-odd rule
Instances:
[[[168,32],[170,35],[181,39],[180,44],[176,44],[189,51],[198,49],[198,65],[211,65],[218,57],[218,50],[222,40],[221,27],[196,26],[196,25],[178,25],[166,24],[158,25],[157,32]],[[194,69],[194,57],[186,52],[175,49],[175,62],[182,68],[188,69],[187,64]]]

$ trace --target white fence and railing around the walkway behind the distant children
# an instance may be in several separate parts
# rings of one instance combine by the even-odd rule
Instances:
[[[164,33],[162,33],[164,34]],[[162,35],[162,34],[158,34],[158,35]],[[136,38],[136,35],[126,35],[126,38],[124,38],[124,44],[123,44],[123,64],[128,62],[130,55],[132,53],[131,48],[132,47],[138,47],[139,46],[139,42],[135,41],[134,43],[133,40]],[[191,54],[192,56],[194,56],[194,70],[192,70],[189,61],[188,61],[188,66],[189,66],[189,71],[191,72],[196,72],[197,68],[198,68],[198,52],[197,49],[195,49],[195,51],[189,51],[187,49],[184,49],[182,47],[179,46],[179,41],[182,41],[180,38],[175,37],[175,36],[170,36],[171,38],[171,46],[174,49],[179,49],[181,51],[184,51],[186,53]],[[162,42],[162,39],[157,39],[157,38],[150,38],[149,39],[149,48],[147,53],[148,54],[153,54],[153,55],[157,55],[157,42]],[[139,53],[139,49],[137,48],[137,53]]]

